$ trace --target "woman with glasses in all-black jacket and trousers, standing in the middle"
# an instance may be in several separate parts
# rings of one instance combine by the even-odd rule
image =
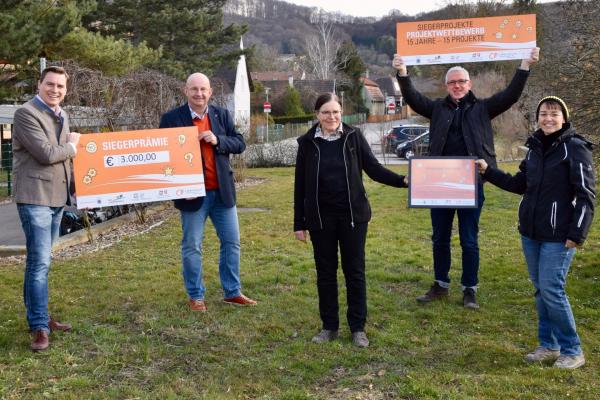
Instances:
[[[323,321],[312,341],[323,343],[338,336],[339,246],[352,342],[367,347],[365,241],[371,208],[362,171],[390,186],[407,187],[407,181],[377,161],[360,130],[341,122],[342,109],[335,94],[319,96],[315,112],[319,122],[298,138],[294,183],[294,235],[306,242],[306,231],[310,233]]]

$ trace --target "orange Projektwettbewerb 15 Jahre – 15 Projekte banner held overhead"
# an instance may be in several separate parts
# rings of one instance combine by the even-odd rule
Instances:
[[[535,14],[396,24],[397,53],[406,65],[529,58]]]

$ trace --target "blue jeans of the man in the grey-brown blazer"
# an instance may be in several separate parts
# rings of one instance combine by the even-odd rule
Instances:
[[[23,301],[31,331],[48,328],[48,272],[52,243],[58,238],[63,207],[17,204],[21,226],[25,233],[27,260]]]

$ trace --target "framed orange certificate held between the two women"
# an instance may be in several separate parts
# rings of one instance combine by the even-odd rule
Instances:
[[[410,208],[477,208],[476,157],[413,157]]]

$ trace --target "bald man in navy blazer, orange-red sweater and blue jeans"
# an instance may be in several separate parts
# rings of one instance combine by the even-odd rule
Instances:
[[[240,230],[233,171],[229,163],[230,154],[240,154],[246,148],[244,137],[235,129],[226,109],[208,104],[212,88],[206,75],[190,75],[184,93],[187,103],[165,113],[161,117],[160,127],[198,127],[206,196],[175,201],[175,207],[181,213],[183,229],[181,258],[188,306],[193,311],[206,311],[202,239],[207,218],[215,226],[221,244],[219,276],[225,303],[255,305],[256,301],[241,292]]]

